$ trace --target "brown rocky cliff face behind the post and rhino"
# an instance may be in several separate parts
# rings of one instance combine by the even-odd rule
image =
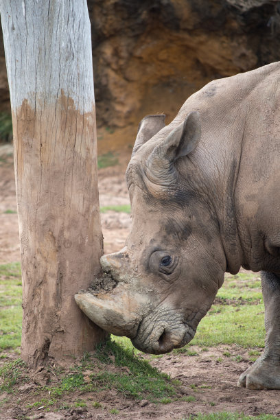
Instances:
[[[167,122],[215,78],[280,60],[280,1],[88,0],[99,126]],[[8,107],[3,43],[0,109]]]

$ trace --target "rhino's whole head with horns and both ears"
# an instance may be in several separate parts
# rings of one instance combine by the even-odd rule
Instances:
[[[141,121],[126,172],[130,235],[124,249],[101,259],[113,285],[75,295],[93,322],[146,353],[166,353],[194,337],[226,266],[207,200],[211,186],[193,158],[200,116],[174,121],[171,128],[163,115]]]

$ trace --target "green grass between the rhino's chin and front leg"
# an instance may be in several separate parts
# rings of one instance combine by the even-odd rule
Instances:
[[[220,299],[242,299],[254,305],[212,305],[200,321],[191,345],[214,347],[237,344],[244,348],[264,347],[264,303],[260,279],[246,272],[227,276],[218,292]]]

